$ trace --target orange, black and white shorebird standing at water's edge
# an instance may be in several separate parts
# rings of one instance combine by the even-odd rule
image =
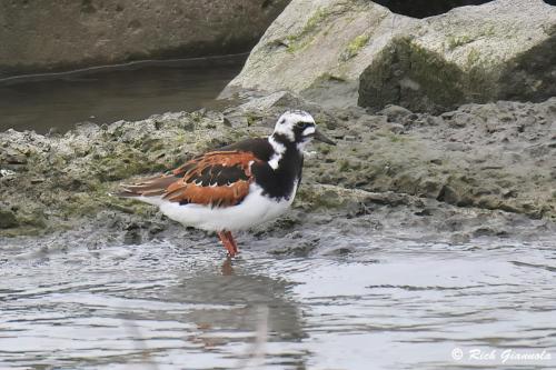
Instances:
[[[238,253],[232,232],[276,219],[294,202],[301,183],[304,152],[322,134],[310,113],[282,113],[267,138],[193,157],[162,174],[122,183],[119,197],[152,206],[186,227],[217,232],[228,257]]]

